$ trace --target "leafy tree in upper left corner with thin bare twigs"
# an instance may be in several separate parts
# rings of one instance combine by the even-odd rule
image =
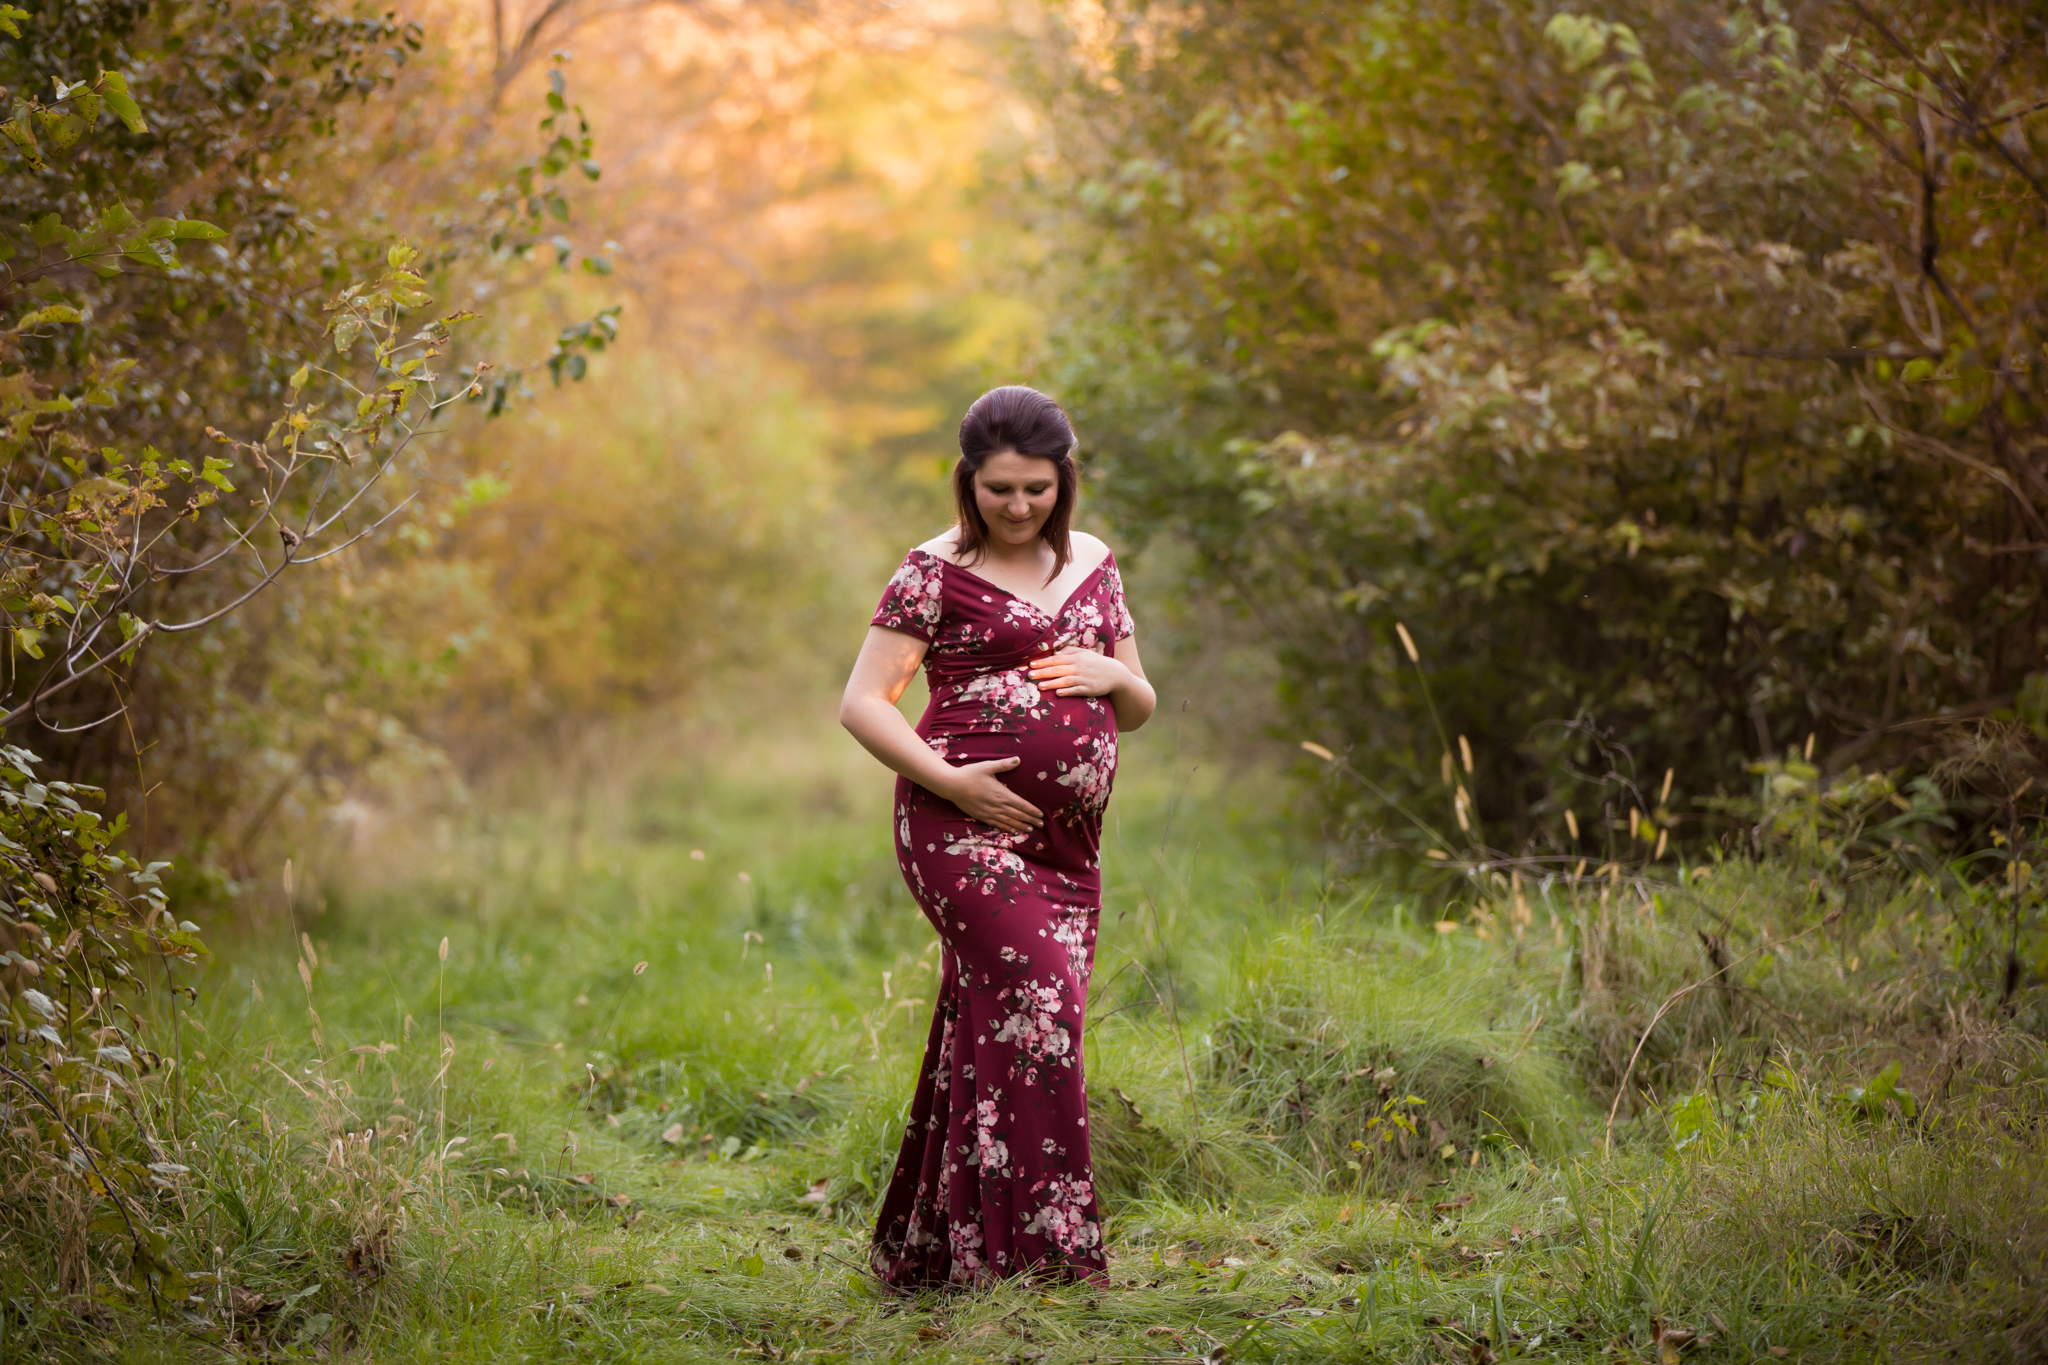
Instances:
[[[537,272],[604,264],[557,246],[567,182],[598,172],[590,131],[557,70],[535,156],[459,158],[453,186],[414,176],[399,188],[422,203],[393,219],[350,192],[403,180],[360,106],[389,100],[418,25],[309,0],[106,0],[8,27],[0,716],[43,724],[37,749],[117,804],[139,798],[150,753],[133,786],[170,784],[156,833],[205,827],[260,729],[248,675],[279,665],[262,596],[408,528],[432,501],[422,424],[496,413],[526,375],[580,379],[614,334],[600,313],[502,364],[465,340],[477,313],[449,305],[537,248]],[[393,250],[401,223],[418,241]],[[360,667],[383,663],[354,645]],[[332,712],[313,761],[375,743],[356,708]]]

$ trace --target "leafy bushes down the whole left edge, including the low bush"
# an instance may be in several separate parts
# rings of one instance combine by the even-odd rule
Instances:
[[[557,74],[547,149],[516,194],[449,219],[457,248],[422,256],[352,223],[336,241],[285,186],[416,29],[258,0],[8,6],[0,31],[0,299],[27,305],[0,325],[0,726],[41,724],[78,774],[109,765],[92,737],[115,720],[129,741],[137,720],[203,724],[190,679],[150,669],[156,641],[385,528],[420,495],[422,430],[465,399],[502,409],[522,370],[457,364],[455,325],[475,315],[426,313],[430,276],[528,252],[565,211],[555,180],[588,158],[588,129]],[[532,368],[580,379],[610,336],[604,313]],[[152,958],[168,980],[199,952],[197,929],[168,911],[168,864],[113,851],[127,825],[88,808],[102,792],[41,782],[37,763],[0,753],[8,1269],[45,1252],[59,1293],[147,1295],[162,1314],[190,1287],[162,1228],[186,1169],[156,1130],[174,1109],[150,1099],[168,1068],[141,988]],[[115,1246],[127,1281],[98,1254]]]

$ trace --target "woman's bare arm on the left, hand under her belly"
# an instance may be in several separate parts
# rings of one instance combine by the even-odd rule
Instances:
[[[913,634],[868,626],[868,639],[860,645],[860,657],[854,659],[854,673],[846,679],[846,696],[840,698],[840,724],[852,731],[860,747],[881,759],[885,767],[903,774],[934,796],[950,800],[983,825],[1012,835],[1044,825],[1038,806],[1012,792],[995,776],[1010,772],[1020,759],[989,759],[987,763],[954,767],[932,753],[932,747],[895,708],[897,698],[915,677],[918,665],[924,663],[926,649],[926,643]]]

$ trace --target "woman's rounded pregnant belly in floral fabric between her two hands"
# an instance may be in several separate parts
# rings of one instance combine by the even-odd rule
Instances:
[[[1116,714],[1102,698],[1049,696],[1036,710],[991,729],[977,708],[944,706],[918,733],[952,765],[1020,759],[1001,778],[1047,814],[1100,817],[1116,778]]]

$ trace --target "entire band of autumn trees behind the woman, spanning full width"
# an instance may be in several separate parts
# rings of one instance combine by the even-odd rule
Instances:
[[[166,108],[6,172],[16,317],[90,315],[25,372],[82,393],[92,336],[162,375],[90,446],[244,479],[205,428],[264,438],[395,237],[483,315],[465,364],[539,366],[412,448],[375,538],[41,710],[209,894],[528,761],[602,772],[606,735],[809,706],[944,522],[956,413],[1020,375],[1077,413],[1184,696],[1346,757],[1368,847],[1421,843],[1415,802],[1501,849],[1698,847],[1761,831],[1757,765],[1931,776],[1964,839],[2048,790],[2025,6],[20,23],[10,88],[121,68]],[[229,235],[162,282],[20,274],[27,223],[117,182]]]

